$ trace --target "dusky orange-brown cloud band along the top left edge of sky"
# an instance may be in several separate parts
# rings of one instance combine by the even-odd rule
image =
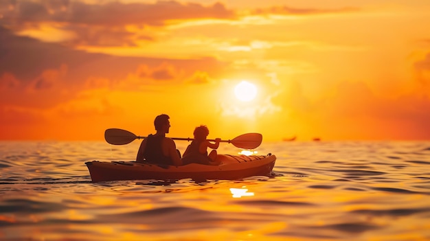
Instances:
[[[198,3],[157,1],[156,3],[84,3],[83,1],[16,1],[13,8],[3,8],[5,21],[62,22],[84,25],[122,26],[165,25],[184,19],[230,19],[234,12],[222,3],[203,6]]]

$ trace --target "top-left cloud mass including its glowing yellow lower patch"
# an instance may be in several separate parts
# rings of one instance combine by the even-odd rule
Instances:
[[[11,1],[7,7],[0,8],[0,25],[23,36],[69,46],[136,46],[135,41],[154,41],[151,27],[234,17],[234,12],[222,3],[201,5],[178,1],[91,4],[84,1]]]

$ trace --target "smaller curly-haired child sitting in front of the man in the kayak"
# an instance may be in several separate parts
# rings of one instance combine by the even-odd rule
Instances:
[[[217,149],[221,139],[216,138],[215,143],[212,144],[206,139],[207,135],[209,135],[207,126],[197,126],[194,129],[194,140],[188,145],[185,152],[183,152],[182,161],[184,164],[201,163],[205,165],[219,165],[219,162],[216,161],[216,150],[212,150],[208,155],[207,148]]]

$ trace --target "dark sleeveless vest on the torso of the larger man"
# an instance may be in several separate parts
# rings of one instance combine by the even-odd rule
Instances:
[[[146,137],[144,152],[145,162],[159,165],[173,165],[172,159],[163,154],[163,136],[149,135]]]

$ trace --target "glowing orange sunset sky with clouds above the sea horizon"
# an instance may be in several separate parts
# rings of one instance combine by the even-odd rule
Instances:
[[[324,3],[323,3],[324,2]],[[430,5],[1,1],[0,139],[429,140]],[[236,84],[255,84],[249,102]]]

